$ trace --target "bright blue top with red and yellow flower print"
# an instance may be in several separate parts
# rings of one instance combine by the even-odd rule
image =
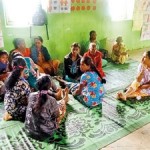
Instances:
[[[80,84],[84,85],[81,95],[77,96],[80,101],[88,107],[94,107],[101,104],[105,90],[101,83],[101,79],[96,72],[85,72],[81,76]]]

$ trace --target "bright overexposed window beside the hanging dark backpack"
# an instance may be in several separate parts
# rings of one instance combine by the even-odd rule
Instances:
[[[27,27],[39,4],[45,6],[46,0],[3,0],[6,27]]]

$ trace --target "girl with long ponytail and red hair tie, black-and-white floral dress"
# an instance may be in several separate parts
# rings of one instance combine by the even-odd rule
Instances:
[[[26,62],[23,57],[16,57],[12,66],[13,71],[5,84],[4,106],[6,113],[4,120],[23,120],[27,108],[27,97],[30,93],[29,84],[23,77]]]

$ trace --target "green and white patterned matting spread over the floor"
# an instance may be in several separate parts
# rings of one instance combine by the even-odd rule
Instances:
[[[0,122],[0,150],[98,150],[150,122],[150,98],[116,100],[116,92],[134,79],[138,62],[108,64],[102,107],[88,109],[69,95],[67,116],[53,137],[43,142],[28,137],[19,121]],[[3,104],[0,103],[0,114]],[[0,116],[1,118],[2,116]]]

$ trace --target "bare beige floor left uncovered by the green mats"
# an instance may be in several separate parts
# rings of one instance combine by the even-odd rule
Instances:
[[[143,51],[131,51],[130,57],[140,61]],[[150,123],[122,139],[102,148],[102,150],[150,150]]]

